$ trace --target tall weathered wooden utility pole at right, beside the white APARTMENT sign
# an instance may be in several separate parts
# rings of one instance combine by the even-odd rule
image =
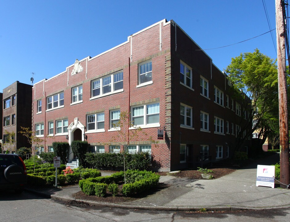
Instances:
[[[277,36],[277,64],[278,64],[278,93],[279,93],[279,130],[280,130],[280,185],[289,185],[289,136],[288,136],[288,108],[286,81],[286,52],[285,52],[285,23],[284,0],[275,0],[276,8],[276,36]],[[289,58],[288,58],[289,59]]]

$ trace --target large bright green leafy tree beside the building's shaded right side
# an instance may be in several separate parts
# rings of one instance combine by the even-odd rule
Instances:
[[[241,121],[241,130],[236,140],[237,150],[241,149],[246,137],[251,136],[255,130],[259,130],[258,138],[263,144],[275,124],[278,110],[278,76],[275,61],[255,49],[254,52],[241,53],[240,56],[232,58],[225,71],[232,83],[235,97],[242,101],[242,109],[250,113],[249,117],[246,117],[247,124],[242,124]],[[243,137],[243,132],[249,124],[252,124],[252,130],[246,132],[246,137]]]

